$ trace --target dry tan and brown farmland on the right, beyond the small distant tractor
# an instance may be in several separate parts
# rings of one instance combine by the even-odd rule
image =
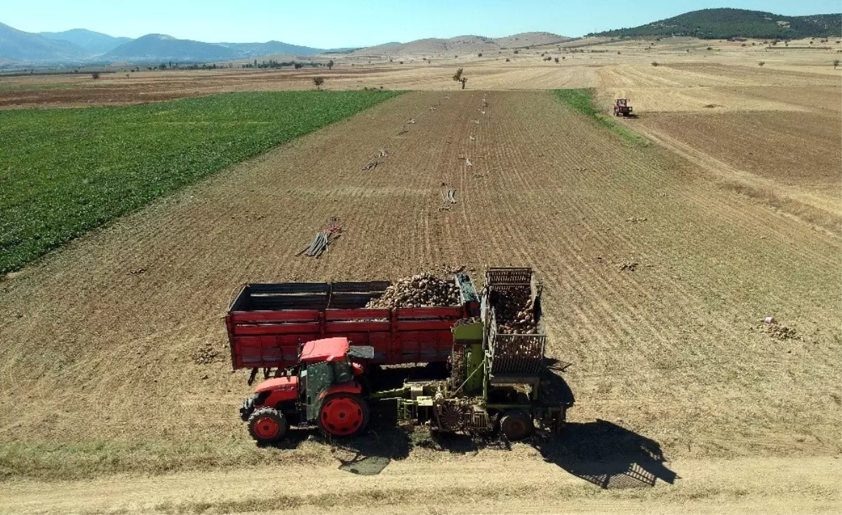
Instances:
[[[600,78],[602,103],[632,98],[641,117],[626,127],[722,187],[842,235],[842,73],[690,62],[605,67]]]

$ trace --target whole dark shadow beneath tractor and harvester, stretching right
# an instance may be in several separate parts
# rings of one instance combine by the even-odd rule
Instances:
[[[573,406],[573,391],[558,372],[569,364],[549,359],[544,375],[545,399]],[[381,375],[382,382],[400,384],[402,376]],[[430,449],[450,454],[475,454],[482,449],[511,449],[499,433],[468,435],[430,432],[424,427],[401,427],[397,413],[389,405],[371,406],[369,430],[355,438],[332,439],[317,431],[290,431],[287,438],[273,447],[296,449],[307,440],[314,440],[334,449],[340,470],[356,475],[377,475],[392,460],[407,459],[413,448]],[[658,480],[674,484],[678,479],[664,464],[660,444],[613,422],[570,422],[561,436],[537,432],[525,441],[537,449],[542,458],[562,470],[600,486],[603,489],[655,486]]]

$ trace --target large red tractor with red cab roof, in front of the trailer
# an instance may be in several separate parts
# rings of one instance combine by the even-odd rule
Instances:
[[[296,367],[264,380],[243,401],[240,417],[248,432],[264,444],[284,438],[290,425],[316,426],[332,437],[361,433],[369,407],[359,381],[363,367],[352,363],[352,356],[370,359],[373,349],[351,347],[344,337],[306,343]]]

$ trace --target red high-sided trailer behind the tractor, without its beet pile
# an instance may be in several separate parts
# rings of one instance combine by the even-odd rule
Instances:
[[[247,284],[226,316],[234,369],[270,369],[298,364],[301,346],[345,337],[374,348],[374,364],[444,362],[453,347],[450,328],[479,316],[471,278],[456,275],[461,304],[421,308],[367,309],[387,281],[354,283]]]

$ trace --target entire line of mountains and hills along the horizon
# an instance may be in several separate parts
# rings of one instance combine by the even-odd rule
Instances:
[[[702,39],[763,38],[797,39],[809,36],[842,35],[842,14],[783,16],[781,14],[744,9],[702,9],[663,19],[631,29],[615,29],[592,35],[626,38],[649,38],[671,35]],[[429,38],[408,43],[386,43],[353,50],[360,55],[429,54],[482,52],[550,45],[569,40],[547,32],[529,32],[504,38],[477,35],[450,39]],[[210,62],[251,59],[263,56],[312,56],[327,51],[319,48],[290,45],[280,41],[266,43],[205,43],[179,40],[169,35],[149,34],[131,40],[116,38],[85,29],[64,32],[24,32],[0,24],[0,65],[13,63],[106,63],[128,61]],[[346,50],[346,49],[342,49]],[[351,50],[349,50],[351,51]]]

